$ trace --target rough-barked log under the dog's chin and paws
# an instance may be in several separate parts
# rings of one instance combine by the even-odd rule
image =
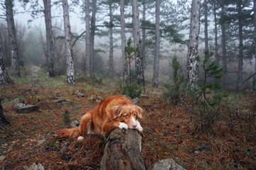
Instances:
[[[141,144],[142,137],[137,130],[114,129],[105,142],[101,169],[146,169]]]

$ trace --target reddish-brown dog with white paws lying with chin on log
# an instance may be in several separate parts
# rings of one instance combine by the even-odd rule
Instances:
[[[142,118],[142,108],[124,96],[110,96],[85,113],[78,128],[58,130],[57,134],[60,137],[78,137],[92,132],[106,136],[113,128],[131,128],[142,132],[138,118]],[[78,140],[82,139],[78,137]]]

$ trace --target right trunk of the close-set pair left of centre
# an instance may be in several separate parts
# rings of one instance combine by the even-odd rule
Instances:
[[[96,12],[97,12],[97,8],[96,8],[96,3],[97,0],[92,0],[92,18],[91,18],[91,32],[90,32],[90,65],[91,65],[91,72],[92,74],[94,73],[94,68],[93,68],[93,63],[94,63],[94,45],[95,45],[95,28],[96,28]]]

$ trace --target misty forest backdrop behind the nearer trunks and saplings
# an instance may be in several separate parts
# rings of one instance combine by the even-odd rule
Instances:
[[[19,69],[26,69],[26,66],[33,64],[45,67],[50,77],[66,75],[67,69],[73,72],[70,71],[70,67],[73,67],[75,77],[123,77],[127,81],[127,63],[124,61],[122,46],[126,45],[124,40],[129,38],[135,42],[133,31],[136,24],[140,28],[137,43],[141,48],[139,55],[142,56],[142,70],[135,67],[134,60],[132,77],[139,84],[146,82],[156,87],[169,84],[173,81],[170,63],[174,56],[181,63],[181,74],[188,77],[191,1],[159,1],[159,15],[156,13],[156,1],[138,1],[139,23],[133,23],[132,4],[124,1],[125,30],[120,20],[120,1],[66,1],[68,12],[80,18],[80,22],[86,26],[82,30],[75,30],[76,26],[73,25],[68,26],[71,30],[67,34],[65,26],[69,21],[63,19],[63,3],[1,1],[1,45],[6,67],[10,67],[8,70],[12,76],[19,77]],[[23,13],[31,15],[27,23],[14,20],[15,16]],[[210,60],[223,67],[223,77],[218,81],[223,84],[223,89],[255,88],[252,82],[256,72],[253,1],[202,1],[200,13],[198,52],[195,55],[202,59],[205,50],[213,52]],[[33,24],[36,18],[43,17],[46,28],[43,27],[44,23],[38,26]],[[159,31],[156,31],[157,28]],[[122,29],[125,33],[123,37]],[[71,60],[66,57],[65,50],[65,37],[68,34]],[[159,40],[159,45],[156,40]],[[16,54],[12,55],[11,51]],[[73,62],[73,66],[69,67],[68,62]],[[203,79],[201,64],[197,72],[198,79]],[[68,73],[68,77],[70,74],[73,73]],[[139,74],[144,75],[138,78]],[[74,83],[75,79],[72,79],[68,81]],[[213,81],[213,78],[207,79],[207,82]]]

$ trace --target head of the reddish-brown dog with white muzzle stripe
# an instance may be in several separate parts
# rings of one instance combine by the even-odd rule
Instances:
[[[136,105],[114,106],[114,120],[126,123],[129,128],[137,127],[136,120],[142,118],[142,108]]]

